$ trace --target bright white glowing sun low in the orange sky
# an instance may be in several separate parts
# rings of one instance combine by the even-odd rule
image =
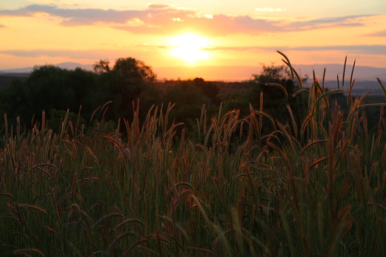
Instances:
[[[207,51],[208,39],[196,34],[182,34],[171,38],[172,49],[170,54],[185,61],[186,64],[195,64],[197,61],[209,58]]]

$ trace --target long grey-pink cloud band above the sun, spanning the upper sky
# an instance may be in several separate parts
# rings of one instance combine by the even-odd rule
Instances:
[[[259,9],[259,8],[258,8]],[[264,11],[281,11],[280,8],[260,8]],[[134,34],[176,34],[196,32],[204,36],[227,36],[231,34],[261,34],[264,32],[288,32],[337,26],[363,26],[363,20],[371,15],[331,17],[298,21],[283,25],[250,16],[205,15],[195,10],[173,5],[150,4],[146,10],[102,10],[81,8],[59,8],[52,5],[28,5],[14,10],[0,10],[0,16],[28,16],[46,13],[62,17],[63,26],[85,26],[104,23],[114,29],[127,30]]]

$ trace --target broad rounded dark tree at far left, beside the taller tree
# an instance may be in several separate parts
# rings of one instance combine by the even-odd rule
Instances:
[[[80,68],[72,71],[53,65],[35,67],[25,81],[14,81],[2,90],[2,98],[6,98],[3,108],[11,119],[20,116],[27,127],[33,116],[35,121],[41,119],[42,110],[46,110],[49,119],[50,109],[77,113],[82,105],[82,115],[91,115],[100,105],[96,78],[95,73]]]

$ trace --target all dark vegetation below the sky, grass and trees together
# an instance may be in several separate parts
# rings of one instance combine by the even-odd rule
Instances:
[[[283,57],[222,95],[199,78],[160,89],[131,58],[14,82],[2,254],[386,256],[384,104],[352,98],[353,79],[347,97],[303,88]]]

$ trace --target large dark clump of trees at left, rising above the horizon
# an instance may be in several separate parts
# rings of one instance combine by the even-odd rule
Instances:
[[[0,110],[15,120],[20,117],[27,128],[41,120],[42,110],[56,109],[71,112],[82,110],[83,118],[91,117],[100,103],[113,100],[108,120],[133,118],[132,101],[141,98],[144,110],[158,102],[154,88],[155,74],[149,66],[134,58],[117,59],[110,69],[107,60],[94,65],[94,71],[61,69],[52,65],[36,67],[25,81],[16,80],[0,91]],[[141,113],[141,119],[146,113]]]

